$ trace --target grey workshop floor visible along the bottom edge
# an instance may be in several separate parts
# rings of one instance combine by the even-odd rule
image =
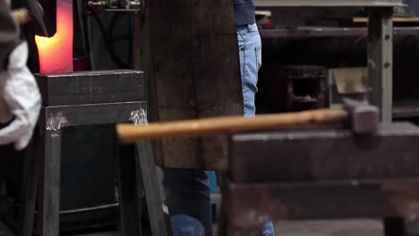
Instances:
[[[3,226],[4,227],[4,226]],[[276,235],[280,236],[383,236],[378,220],[359,219],[346,221],[306,221],[276,223]],[[118,236],[117,232],[97,232],[78,236]],[[0,236],[13,236],[0,223]]]

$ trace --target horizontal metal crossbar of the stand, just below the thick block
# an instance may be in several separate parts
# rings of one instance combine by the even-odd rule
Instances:
[[[40,119],[47,126],[51,119],[64,118],[63,126],[78,126],[129,122],[131,112],[146,107],[146,102],[123,102],[90,105],[58,105],[44,107],[46,117]]]

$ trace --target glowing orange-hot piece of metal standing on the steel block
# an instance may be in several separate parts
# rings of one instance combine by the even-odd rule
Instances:
[[[56,34],[35,36],[41,73],[73,72],[73,2],[57,0]]]

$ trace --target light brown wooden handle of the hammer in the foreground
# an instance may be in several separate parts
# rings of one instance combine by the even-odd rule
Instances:
[[[288,114],[262,114],[255,117],[223,116],[179,122],[155,122],[143,126],[118,124],[116,132],[122,143],[139,139],[158,139],[174,136],[196,136],[259,131],[296,125],[343,122],[349,114],[343,109],[320,109]]]

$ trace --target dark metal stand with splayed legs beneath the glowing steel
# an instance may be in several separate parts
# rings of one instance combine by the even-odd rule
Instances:
[[[92,74],[87,75],[87,78],[83,78],[84,80],[79,80],[77,77],[80,77],[80,74],[75,74],[73,76],[74,80],[53,80],[52,86],[57,86],[58,82],[70,83],[70,85],[74,85],[74,83],[77,82],[77,91],[82,90],[87,93],[90,93],[91,89],[81,89],[81,83],[87,83],[86,86],[94,86],[94,88],[99,88],[101,91],[115,89],[115,86],[112,84],[115,81],[117,82],[116,79],[118,79],[118,77],[115,77],[115,72],[109,72],[111,73],[110,76],[104,76],[104,73],[105,72],[92,72]],[[130,72],[122,73],[126,74]],[[131,72],[131,74],[135,75],[135,72]],[[117,72],[116,75],[118,75]],[[68,77],[69,75],[67,74],[64,76]],[[83,76],[86,75],[83,74]],[[104,80],[103,78],[98,78],[98,80],[95,80],[95,76],[105,77],[105,79],[115,79],[109,79],[109,81]],[[132,82],[136,81],[132,80],[130,77],[126,77],[125,79]],[[38,80],[47,79],[38,78]],[[107,84],[109,87],[106,88],[103,84]],[[65,84],[62,86],[65,86]],[[68,87],[60,88],[67,89]],[[43,91],[44,97],[57,98],[51,101],[62,99],[60,101],[63,102],[63,99],[73,99],[77,105],[44,105],[44,107],[42,107],[38,125],[40,131],[37,140],[37,160],[26,160],[25,163],[25,170],[28,170],[28,173],[25,174],[25,183],[23,184],[20,216],[20,233],[23,236],[32,235],[37,190],[38,235],[59,235],[61,140],[63,128],[67,126],[130,122],[130,117],[133,111],[146,107],[146,102],[144,101],[103,102],[107,99],[115,99],[115,97],[118,98],[118,96],[122,98],[131,96],[126,91],[114,96],[112,96],[112,94],[98,93],[98,97],[102,99],[102,102],[99,99],[95,100],[95,102],[97,102],[95,104],[82,104],[80,97],[83,95],[74,96],[74,90],[70,91],[68,97],[66,97],[65,93],[64,95],[57,95],[54,94],[56,90],[52,89],[51,91],[48,91],[46,89],[48,89],[48,86],[45,86],[44,89],[41,86],[41,91]],[[127,89],[130,88],[127,87]],[[141,87],[138,85],[133,87],[133,97],[135,97],[135,93],[138,93],[140,97],[143,96],[141,95],[141,90],[139,89],[141,89]],[[73,98],[71,96],[73,96]],[[85,95],[85,97],[90,101],[91,99],[98,99],[95,98],[94,94]],[[68,103],[68,101],[65,102]],[[133,149],[127,149],[128,147],[119,148],[117,169],[122,230],[123,235],[125,236],[141,235],[142,186],[141,178],[139,178],[140,173],[142,174],[142,179],[144,180],[145,197],[148,202],[150,222],[152,224],[152,228],[155,229],[153,230],[153,235],[167,235],[166,224],[164,223],[162,216],[163,209],[159,195],[160,192],[158,188],[157,173],[151,147],[149,147],[149,145],[150,143],[143,144],[141,146],[137,145],[137,151],[139,154],[139,157],[137,158],[135,157],[136,155]]]

